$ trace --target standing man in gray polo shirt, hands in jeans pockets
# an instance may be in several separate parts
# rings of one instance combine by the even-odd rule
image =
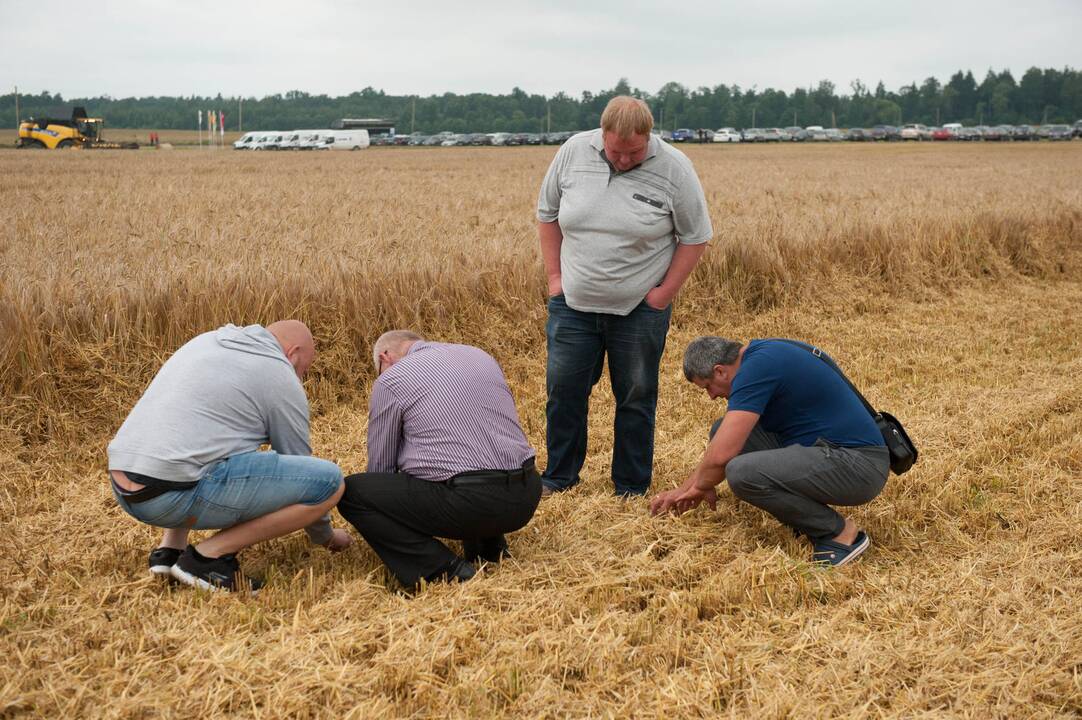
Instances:
[[[549,463],[543,493],[579,483],[590,392],[608,356],[618,495],[649,489],[658,366],[672,301],[713,235],[687,157],[650,134],[643,101],[613,97],[598,130],[560,147],[541,184],[549,279]]]

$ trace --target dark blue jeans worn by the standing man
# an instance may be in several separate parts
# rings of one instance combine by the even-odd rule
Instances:
[[[547,487],[563,490],[581,480],[590,392],[601,379],[608,355],[616,397],[612,484],[617,495],[645,495],[649,489],[658,367],[671,315],[671,306],[655,310],[646,302],[620,316],[572,310],[562,294],[549,299],[549,466],[541,479]]]

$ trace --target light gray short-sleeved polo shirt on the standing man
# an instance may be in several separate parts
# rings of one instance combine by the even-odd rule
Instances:
[[[617,172],[602,130],[581,132],[556,153],[541,183],[538,220],[559,222],[559,272],[567,304],[628,315],[664,279],[677,244],[714,231],[691,161],[657,135],[646,159]]]

